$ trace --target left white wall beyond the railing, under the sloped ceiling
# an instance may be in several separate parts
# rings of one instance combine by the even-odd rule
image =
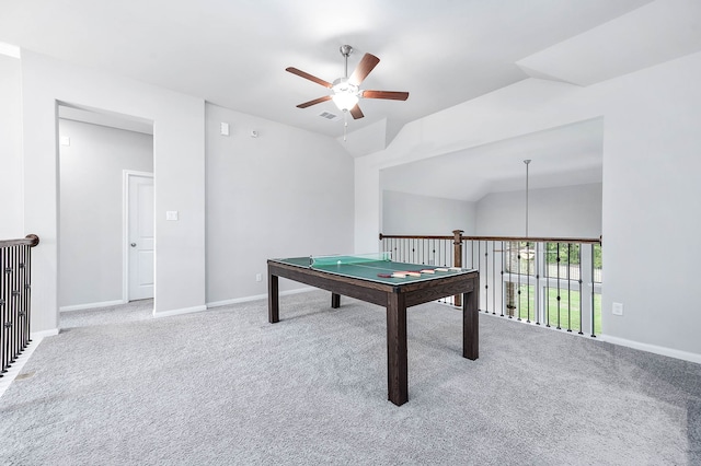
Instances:
[[[475,232],[475,202],[382,191],[382,234],[450,236]]]

